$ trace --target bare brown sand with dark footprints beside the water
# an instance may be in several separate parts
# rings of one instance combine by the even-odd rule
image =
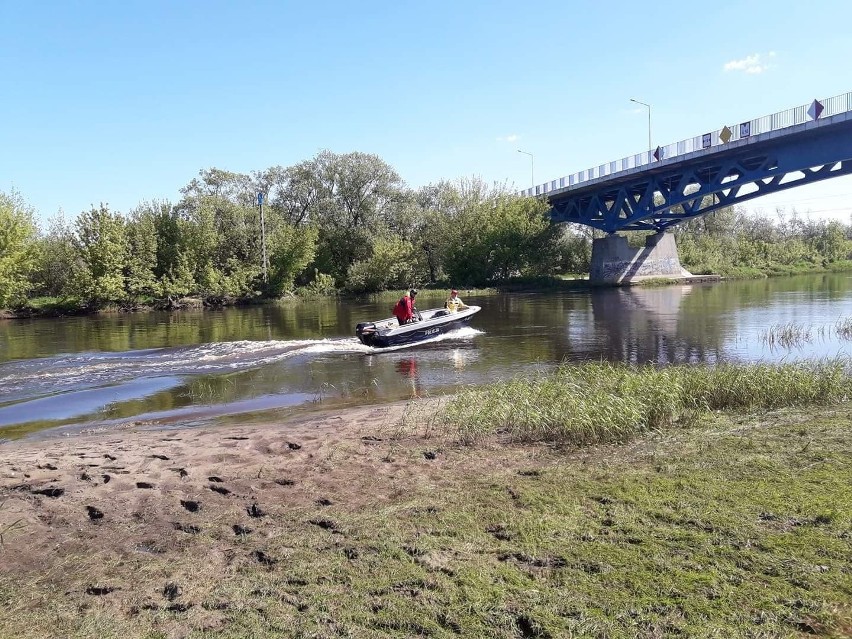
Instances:
[[[46,557],[92,543],[158,554],[178,547],[187,533],[233,536],[237,527],[258,528],[265,520],[259,513],[274,518],[288,509],[332,503],[358,509],[381,501],[415,476],[440,475],[439,442],[415,441],[409,436],[416,426],[406,425],[406,413],[424,410],[427,404],[401,403],[278,424],[128,425],[6,442],[0,445],[3,570],[41,570]]]

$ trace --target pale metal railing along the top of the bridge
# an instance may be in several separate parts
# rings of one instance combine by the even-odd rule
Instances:
[[[819,118],[827,118],[832,115],[846,113],[848,111],[852,111],[852,91],[836,95],[831,98],[826,98],[819,102],[823,106],[822,113],[818,116]],[[616,173],[621,173],[622,171],[629,171],[630,169],[635,169],[646,164],[652,164],[660,160],[666,160],[679,155],[686,155],[695,151],[710,149],[719,146],[720,144],[729,144],[730,142],[735,142],[745,137],[768,133],[770,131],[780,131],[781,129],[786,129],[791,126],[811,122],[814,120],[814,118],[812,118],[808,113],[811,107],[812,104],[804,104],[785,111],[779,111],[778,113],[773,113],[771,115],[764,115],[747,122],[729,125],[718,131],[710,131],[702,135],[697,135],[693,138],[681,140],[680,142],[667,144],[666,146],[659,147],[659,158],[655,158],[654,151],[650,150],[637,153],[635,155],[629,155],[626,158],[621,158],[620,160],[593,166],[585,171],[572,173],[571,175],[566,175],[565,177],[557,178],[550,182],[545,182],[544,184],[538,184],[534,187],[524,189],[520,191],[520,195],[544,195],[551,191],[607,177]],[[725,128],[727,128],[730,133],[730,137],[727,141],[720,136]]]

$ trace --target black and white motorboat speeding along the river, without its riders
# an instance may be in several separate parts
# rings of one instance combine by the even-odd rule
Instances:
[[[452,312],[445,308],[431,308],[418,311],[417,321],[402,325],[395,317],[362,322],[355,327],[355,335],[361,343],[377,348],[413,344],[467,326],[481,308],[468,306]]]

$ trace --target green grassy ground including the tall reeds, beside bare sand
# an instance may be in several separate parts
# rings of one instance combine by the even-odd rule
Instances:
[[[552,376],[613,398],[591,421],[566,419],[588,409],[576,398],[550,417],[520,406],[523,384],[556,396],[542,380],[460,395],[359,433],[371,457],[327,457],[325,477],[393,467],[361,477],[374,493],[358,507],[329,487],[251,532],[202,511],[201,532],[162,551],[91,544],[0,569],[0,636],[848,637],[852,411],[836,366]],[[616,408],[632,428],[587,428]]]

